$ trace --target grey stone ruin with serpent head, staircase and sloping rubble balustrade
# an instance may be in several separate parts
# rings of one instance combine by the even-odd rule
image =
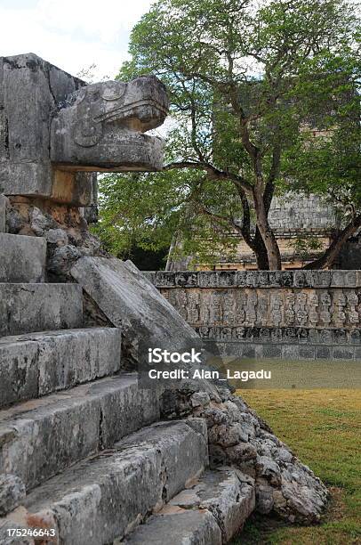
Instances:
[[[85,85],[34,54],[0,59],[1,543],[219,545],[254,509],[310,524],[325,508],[228,387],[140,387],[141,346],[200,339],[85,217],[93,171],[161,166],[144,132],[167,107],[154,77]]]

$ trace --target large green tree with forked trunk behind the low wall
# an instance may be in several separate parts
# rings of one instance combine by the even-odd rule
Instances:
[[[187,225],[175,230],[190,229],[190,219],[202,233],[217,224],[229,243],[231,230],[243,237],[259,268],[281,268],[270,203],[275,191],[311,190],[297,152],[305,158],[309,149],[315,82],[341,123],[340,86],[354,85],[355,28],[342,0],[158,0],[142,17],[119,77],[152,73],[169,90],[167,164],[147,179],[180,183],[171,216]],[[321,110],[322,126],[334,126],[332,110]]]

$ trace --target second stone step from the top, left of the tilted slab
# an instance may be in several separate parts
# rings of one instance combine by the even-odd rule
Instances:
[[[0,283],[0,337],[83,327],[77,284]]]

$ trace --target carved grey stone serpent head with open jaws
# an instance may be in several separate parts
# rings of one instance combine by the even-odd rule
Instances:
[[[156,170],[162,141],[144,134],[169,108],[153,76],[86,85],[59,104],[52,119],[52,162],[67,169]]]

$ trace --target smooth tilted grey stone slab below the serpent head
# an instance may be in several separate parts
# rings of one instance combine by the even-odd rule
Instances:
[[[191,346],[197,333],[162,297],[148,279],[129,262],[102,257],[82,257],[71,269],[74,279],[117,327],[138,360],[144,346],[168,342],[172,350]]]

